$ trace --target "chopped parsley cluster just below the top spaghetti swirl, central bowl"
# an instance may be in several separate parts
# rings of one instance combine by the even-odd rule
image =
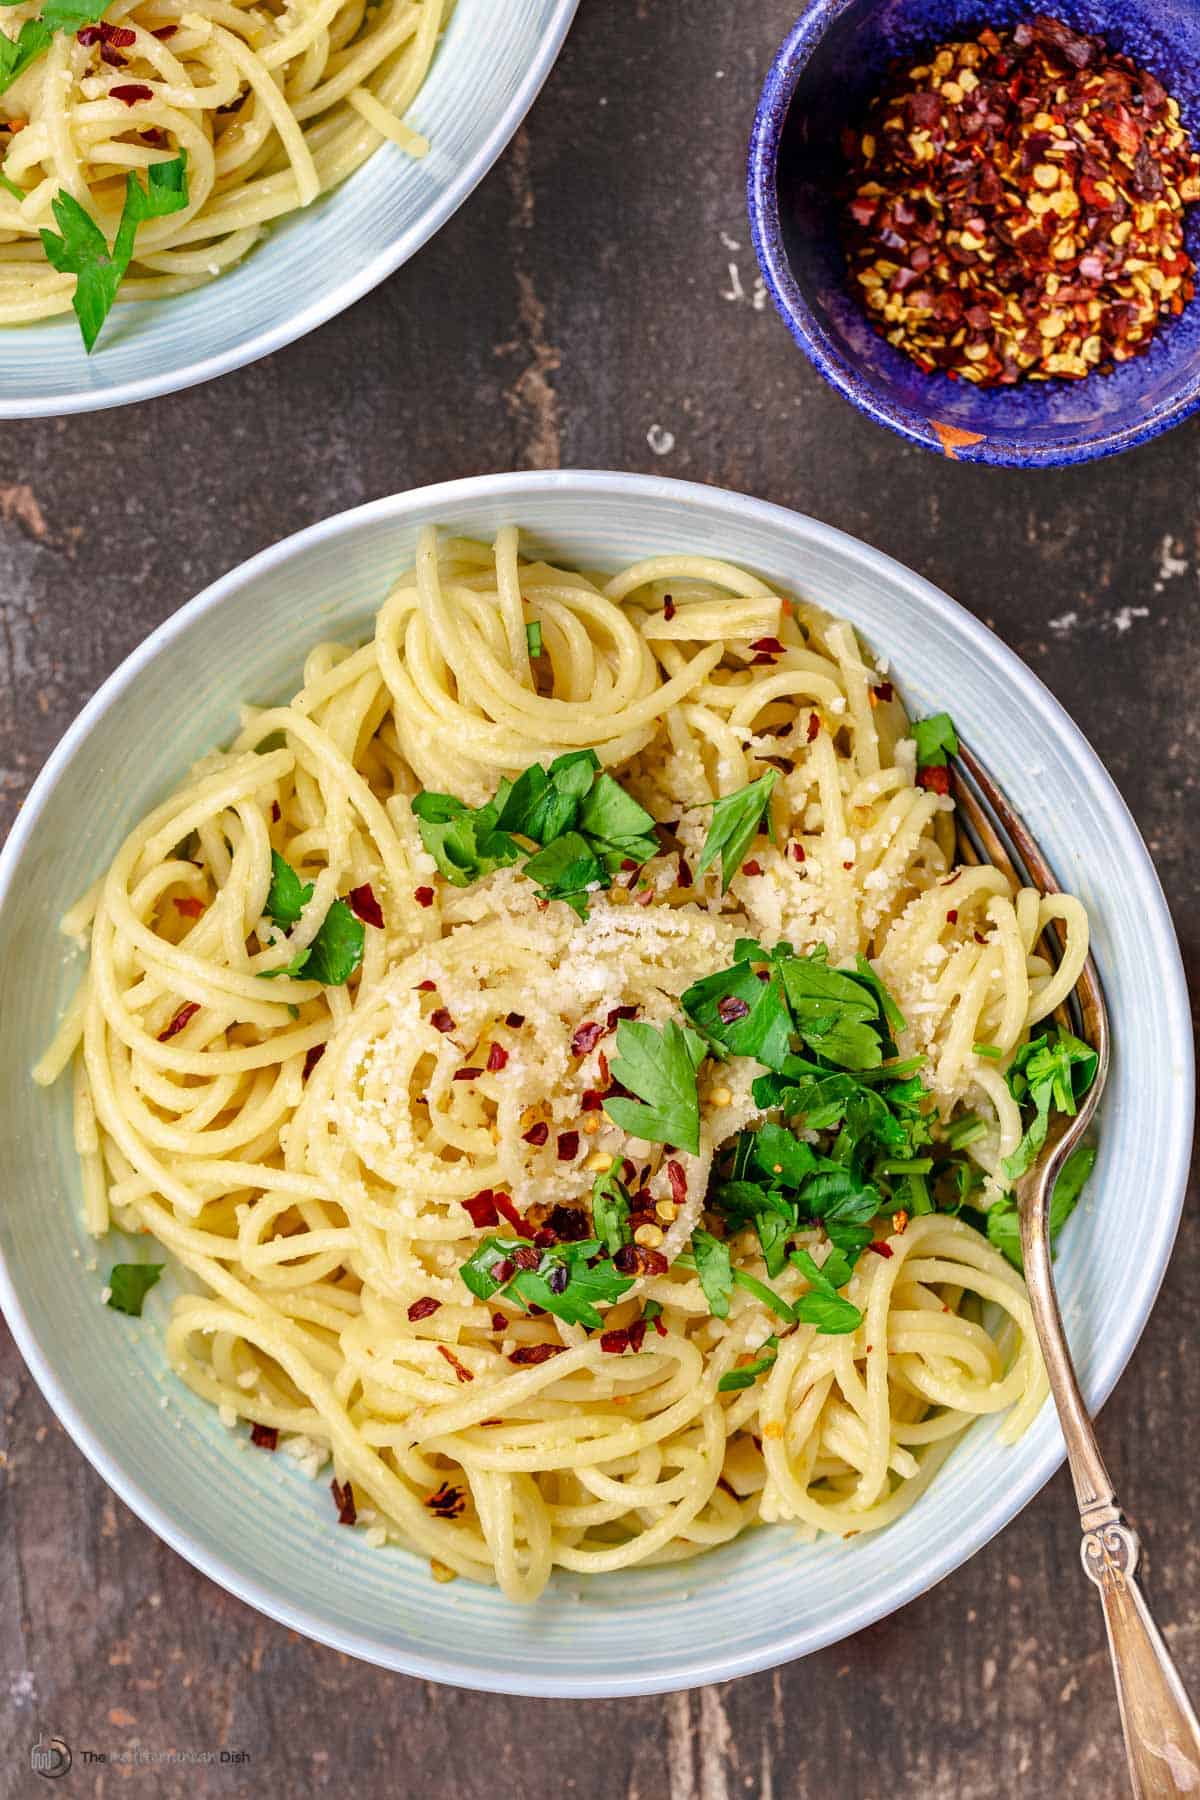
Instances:
[[[569,751],[549,769],[531,763],[486,806],[426,792],[412,810],[421,842],[455,887],[525,857],[522,875],[538,882],[542,898],[565,900],[579,918],[588,916],[588,893],[610,887],[622,864],[658,855],[655,821],[601,770],[596,751]]]

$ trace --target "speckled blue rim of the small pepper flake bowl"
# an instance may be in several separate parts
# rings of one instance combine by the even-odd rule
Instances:
[[[876,425],[963,463],[993,463],[1004,468],[1061,468],[1074,463],[1094,463],[1103,455],[1117,455],[1135,445],[1148,443],[1173,425],[1182,425],[1200,407],[1200,369],[1173,400],[1162,401],[1133,425],[1105,432],[1097,437],[1078,437],[1052,445],[1029,445],[1011,434],[988,434],[981,443],[945,445],[921,412],[887,400],[867,376],[842,353],[833,333],[808,304],[792,270],[779,218],[779,142],[792,106],[797,83],[820,38],[856,0],[810,0],[795,25],[779,47],[763,83],[747,162],[747,205],[750,238],[763,270],[763,279],[788,331],[801,346],[817,374],[824,376],[853,407],[865,412]],[[1200,304],[1200,299],[1196,301]]]

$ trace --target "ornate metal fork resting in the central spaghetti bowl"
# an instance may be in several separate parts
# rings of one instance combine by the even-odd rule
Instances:
[[[1020,886],[1033,884],[1042,893],[1058,893],[1054,871],[1024,821],[979,758],[963,743],[950,779],[959,817],[959,848],[964,857],[977,862],[982,855]],[[1024,869],[1018,871],[1013,853]],[[1200,1800],[1200,1724],[1137,1582],[1141,1550],[1137,1532],[1117,1505],[1099,1454],[1054,1292],[1051,1195],[1067,1156],[1096,1114],[1108,1075],[1108,1010],[1090,956],[1076,988],[1072,1024],[1097,1053],[1099,1067],[1074,1118],[1054,1114],[1042,1154],[1016,1183],[1025,1283],[1067,1442],[1083,1532],[1079,1544],[1083,1571],[1099,1588],[1105,1607],[1133,1795],[1137,1800],[1169,1800],[1173,1795]]]

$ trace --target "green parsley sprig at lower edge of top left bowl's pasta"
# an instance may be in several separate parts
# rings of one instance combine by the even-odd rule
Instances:
[[[49,13],[50,9],[47,7],[41,22],[47,20]],[[99,18],[101,14],[97,13],[95,16]],[[92,14],[79,14],[79,23],[85,23],[85,18],[92,18]],[[76,27],[72,25],[70,29],[74,31]],[[0,65],[2,79],[4,68]],[[85,212],[72,194],[59,193],[50,207],[58,232],[41,230],[41,245],[50,266],[58,268],[63,275],[76,275],[72,306],[88,355],[95,349],[95,340],[133,259],[137,227],[144,220],[162,218],[167,212],[182,212],[187,205],[187,151],[182,149],[171,162],[153,162],[146,176],[146,187],[142,187],[133,169],[126,176],[124,207],[112,248],[92,214]]]

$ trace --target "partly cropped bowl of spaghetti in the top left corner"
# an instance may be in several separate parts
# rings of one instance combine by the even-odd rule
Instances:
[[[360,299],[488,173],[574,7],[9,7],[0,418],[175,392]]]

